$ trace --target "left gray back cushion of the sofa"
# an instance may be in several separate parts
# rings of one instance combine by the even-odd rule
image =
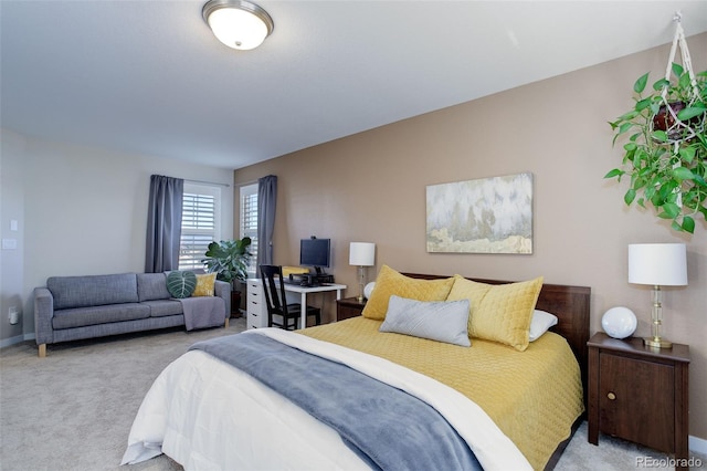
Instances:
[[[138,302],[135,273],[51,276],[46,287],[55,310]]]

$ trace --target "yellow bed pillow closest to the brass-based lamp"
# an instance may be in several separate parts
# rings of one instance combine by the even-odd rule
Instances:
[[[485,284],[455,276],[447,301],[469,300],[468,335],[528,348],[532,310],[542,289],[542,276],[508,284]]]

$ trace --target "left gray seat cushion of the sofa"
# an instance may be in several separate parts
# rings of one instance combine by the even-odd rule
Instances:
[[[137,295],[137,292],[136,292]],[[150,306],[139,303],[108,304],[54,311],[52,326],[56,329],[85,327],[112,322],[135,321],[150,316]]]

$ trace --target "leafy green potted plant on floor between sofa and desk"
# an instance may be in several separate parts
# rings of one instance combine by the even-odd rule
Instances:
[[[236,289],[236,282],[247,279],[247,264],[251,260],[251,238],[222,240],[211,242],[201,261],[209,273],[217,273],[217,280],[231,283],[231,317],[241,316],[241,290]]]

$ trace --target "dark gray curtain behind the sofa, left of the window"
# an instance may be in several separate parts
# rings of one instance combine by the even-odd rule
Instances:
[[[147,212],[145,273],[177,270],[184,180],[152,175]]]

